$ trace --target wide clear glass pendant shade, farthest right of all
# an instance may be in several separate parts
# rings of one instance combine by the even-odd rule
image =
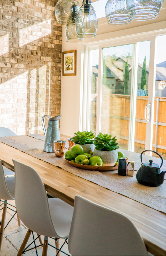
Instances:
[[[163,0],[126,0],[126,5],[132,20],[145,21],[158,17]]]

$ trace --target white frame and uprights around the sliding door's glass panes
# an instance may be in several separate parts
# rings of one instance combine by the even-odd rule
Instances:
[[[118,37],[104,41],[83,44],[82,52],[84,55],[84,68],[82,69],[83,81],[83,104],[82,104],[82,127],[80,130],[90,130],[90,93],[91,93],[91,63],[90,51],[99,49],[98,64],[98,100],[97,100],[97,123],[96,134],[101,131],[101,103],[102,103],[102,49],[105,47],[120,46],[126,44],[134,44],[133,55],[134,65],[132,70],[131,81],[131,104],[130,104],[130,124],[129,124],[129,145],[128,150],[134,152],[135,137],[135,118],[136,118],[136,99],[137,99],[137,63],[138,63],[138,43],[142,41],[151,41],[150,47],[150,64],[149,64],[149,80],[148,80],[148,104],[151,103],[151,120],[146,123],[146,141],[145,149],[152,150],[153,140],[153,124],[154,124],[154,96],[156,82],[156,50],[157,36],[165,35],[165,29]],[[151,88],[151,90],[149,90]],[[145,152],[151,155],[151,152]]]

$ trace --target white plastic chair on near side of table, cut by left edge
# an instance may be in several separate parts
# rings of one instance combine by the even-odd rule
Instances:
[[[0,198],[5,200],[4,208],[3,208],[3,212],[2,212],[1,228],[0,228],[0,252],[1,252],[1,246],[2,246],[4,227],[5,227],[5,219],[6,219],[6,212],[7,212],[7,200],[14,200],[14,179],[15,179],[15,177],[5,178],[4,170],[3,170],[2,163],[0,160]],[[15,211],[15,213],[16,213],[16,211]],[[18,215],[17,215],[17,218],[18,218],[18,225],[20,226],[21,221],[20,221],[20,218],[18,217]]]

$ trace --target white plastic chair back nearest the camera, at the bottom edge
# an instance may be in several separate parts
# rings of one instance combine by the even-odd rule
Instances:
[[[126,216],[78,195],[68,248],[71,255],[148,255],[139,232]]]

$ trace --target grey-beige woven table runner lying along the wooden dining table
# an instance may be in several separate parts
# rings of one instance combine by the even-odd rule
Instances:
[[[33,137],[33,135],[30,137]],[[118,176],[117,171],[101,173],[99,171],[87,171],[70,166],[66,163],[64,158],[57,158],[53,154],[39,151],[34,147],[27,146],[7,137],[1,137],[0,142],[54,166],[60,167],[83,179],[94,182],[104,188],[108,188],[113,192],[127,196],[155,210],[165,212],[165,182],[159,187],[148,187],[138,183],[135,176]]]

